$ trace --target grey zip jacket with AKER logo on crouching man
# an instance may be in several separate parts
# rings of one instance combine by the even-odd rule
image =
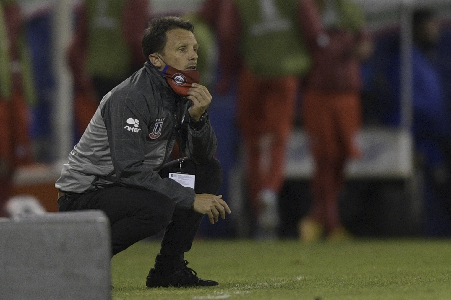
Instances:
[[[193,189],[157,171],[168,159],[175,141],[195,163],[211,160],[216,135],[207,123],[189,127],[191,100],[180,98],[161,72],[149,62],[106,94],[74,150],[55,187],[83,193],[107,186],[158,191],[189,209]]]

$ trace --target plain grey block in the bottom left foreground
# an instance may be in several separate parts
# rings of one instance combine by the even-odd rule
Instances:
[[[110,253],[100,210],[0,218],[0,299],[109,300]]]

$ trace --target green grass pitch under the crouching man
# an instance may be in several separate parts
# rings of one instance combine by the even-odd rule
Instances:
[[[113,300],[451,300],[451,240],[197,240],[185,255],[209,288],[145,286],[159,242],[111,261]]]

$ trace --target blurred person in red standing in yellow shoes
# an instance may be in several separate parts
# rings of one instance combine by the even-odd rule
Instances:
[[[347,0],[303,0],[300,18],[312,53],[304,86],[303,120],[313,153],[313,206],[298,225],[301,241],[349,238],[341,223],[338,195],[345,164],[360,155],[360,61],[372,52],[364,16]]]

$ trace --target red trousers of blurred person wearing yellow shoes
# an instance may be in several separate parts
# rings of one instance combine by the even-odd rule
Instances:
[[[309,217],[332,230],[342,226],[338,195],[345,183],[345,163],[360,155],[356,140],[361,126],[359,92],[307,90],[302,111],[315,163]]]

